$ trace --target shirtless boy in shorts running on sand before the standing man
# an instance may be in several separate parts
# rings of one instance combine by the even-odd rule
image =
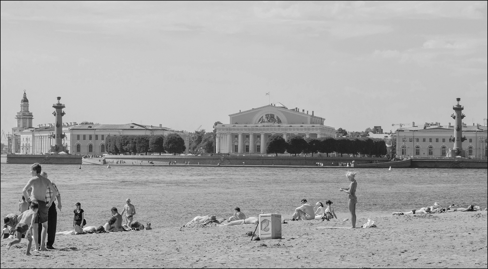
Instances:
[[[12,240],[10,243],[7,244],[7,250],[10,250],[10,247],[15,244],[20,243],[20,239],[22,238],[22,233],[27,232],[25,234],[25,238],[29,240],[29,243],[27,243],[27,255],[30,255],[30,248],[32,246],[32,224],[36,220],[37,216],[37,211],[39,211],[39,204],[37,202],[32,202],[30,205],[30,209],[27,211],[24,211],[23,213],[20,214],[19,216],[19,224],[15,227],[15,230],[17,231],[17,238]],[[39,246],[36,241],[36,251],[39,250]]]

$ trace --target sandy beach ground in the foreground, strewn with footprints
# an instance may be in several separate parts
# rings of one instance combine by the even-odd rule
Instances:
[[[255,225],[57,236],[58,250],[5,250],[1,268],[487,268],[487,211],[384,216],[377,228],[289,221],[283,239],[250,241]],[[358,218],[358,224],[366,219]]]

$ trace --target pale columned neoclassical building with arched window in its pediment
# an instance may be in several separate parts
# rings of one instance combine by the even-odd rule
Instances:
[[[253,108],[229,115],[229,124],[217,124],[217,153],[264,154],[267,139],[274,134],[320,138],[335,136],[336,130],[325,126],[325,118],[281,103]]]

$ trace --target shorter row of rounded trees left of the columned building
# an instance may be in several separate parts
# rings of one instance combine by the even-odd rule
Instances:
[[[106,150],[111,154],[172,153],[181,154],[186,150],[183,138],[178,134],[169,135],[110,135],[105,138]]]

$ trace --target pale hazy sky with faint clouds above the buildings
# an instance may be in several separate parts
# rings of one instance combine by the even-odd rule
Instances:
[[[487,118],[487,1],[1,1],[1,129],[192,132],[275,102],[348,131]],[[266,96],[266,93],[270,96]],[[408,127],[408,126],[407,126]]]

